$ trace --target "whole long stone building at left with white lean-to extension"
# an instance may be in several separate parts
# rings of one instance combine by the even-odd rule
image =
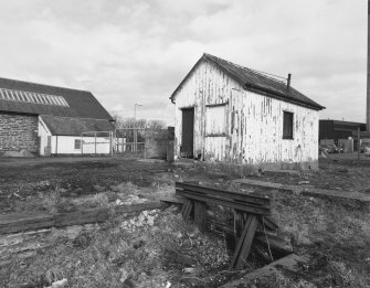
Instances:
[[[89,92],[0,78],[0,154],[109,153],[113,124]]]

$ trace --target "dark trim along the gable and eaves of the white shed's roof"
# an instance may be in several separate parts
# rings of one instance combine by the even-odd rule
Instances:
[[[246,89],[246,90],[258,93],[261,95],[268,96],[268,97],[272,97],[272,98],[276,98],[278,100],[284,100],[284,102],[287,102],[287,103],[296,104],[296,105],[299,105],[299,106],[303,106],[303,107],[306,107],[306,108],[311,108],[314,110],[323,110],[323,109],[326,108],[326,107],[324,107],[324,106],[321,106],[319,104],[313,105],[310,103],[306,103],[306,102],[303,102],[303,100],[297,100],[297,99],[287,97],[284,94],[277,93],[275,90],[266,89],[266,88],[263,88],[263,87],[260,87],[260,86],[255,86],[253,84],[243,83],[243,81],[241,78],[239,78],[236,75],[232,74],[231,72],[229,72],[228,70],[225,70],[224,67],[222,67],[221,65],[219,65],[211,57],[208,57],[207,53],[204,53],[202,55],[202,57],[200,60],[198,60],[198,62],[195,63],[195,65],[191,68],[191,71],[187,74],[187,76],[181,81],[180,85],[171,94],[170,99],[171,99],[172,103],[175,103],[175,94],[180,89],[180,87],[183,85],[183,83],[190,77],[190,75],[192,74],[192,72],[195,70],[195,67],[199,65],[199,63],[202,60],[209,61],[210,63],[212,63],[213,65],[215,65],[216,67],[219,67],[221,71],[223,71],[224,73],[226,73],[231,78],[233,78],[234,81],[239,82],[243,86],[243,88]]]

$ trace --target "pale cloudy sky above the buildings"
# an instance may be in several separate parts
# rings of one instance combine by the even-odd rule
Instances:
[[[110,113],[175,122],[170,95],[209,53],[287,77],[366,121],[364,0],[0,0],[0,77],[91,90]],[[137,106],[140,104],[142,106]]]

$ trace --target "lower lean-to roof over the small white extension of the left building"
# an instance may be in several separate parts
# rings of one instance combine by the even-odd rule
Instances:
[[[107,119],[87,119],[60,117],[51,115],[40,116],[52,135],[81,136],[87,131],[113,131],[115,128]]]

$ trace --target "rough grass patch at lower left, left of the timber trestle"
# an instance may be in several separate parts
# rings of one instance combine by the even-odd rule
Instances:
[[[178,262],[176,255],[192,262]],[[125,282],[162,287],[166,281],[187,282],[188,276],[209,277],[225,268],[228,262],[223,238],[199,233],[172,207],[128,221],[113,220],[74,241],[59,238],[53,247],[29,259],[13,257],[0,270],[0,284],[42,287],[67,278],[68,287],[123,287]],[[184,275],[186,267],[194,269]]]

